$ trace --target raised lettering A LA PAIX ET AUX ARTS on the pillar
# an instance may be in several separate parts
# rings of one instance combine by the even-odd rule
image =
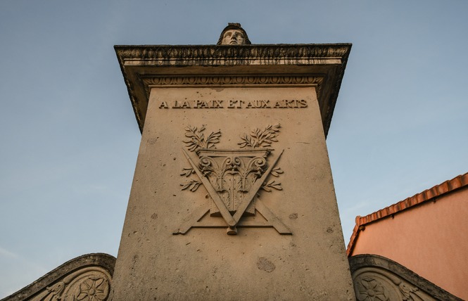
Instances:
[[[289,108],[307,108],[308,103],[305,99],[283,99],[281,101],[270,101],[267,99],[258,99],[254,101],[241,101],[241,100],[213,100],[213,101],[161,101],[159,104],[160,109],[289,109]]]

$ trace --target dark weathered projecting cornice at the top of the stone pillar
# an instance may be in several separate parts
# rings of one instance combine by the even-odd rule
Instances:
[[[114,46],[142,131],[152,85],[313,85],[327,135],[351,44]],[[234,86],[231,86],[234,87]]]

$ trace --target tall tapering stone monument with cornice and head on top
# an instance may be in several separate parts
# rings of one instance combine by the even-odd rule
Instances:
[[[354,300],[325,143],[350,44],[115,51],[142,136],[113,300]]]

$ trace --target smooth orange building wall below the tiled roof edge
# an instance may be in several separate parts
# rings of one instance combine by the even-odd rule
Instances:
[[[350,253],[394,260],[468,300],[468,186],[367,224]]]

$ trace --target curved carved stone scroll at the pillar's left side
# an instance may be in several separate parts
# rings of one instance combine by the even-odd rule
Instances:
[[[111,255],[82,255],[0,301],[107,300],[114,266]]]

